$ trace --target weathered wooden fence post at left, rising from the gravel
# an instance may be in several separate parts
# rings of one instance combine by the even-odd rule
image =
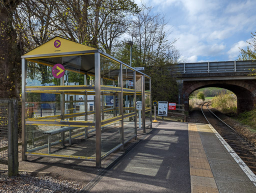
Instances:
[[[16,103],[16,100],[14,101]],[[8,176],[18,174],[17,127],[14,129],[13,100],[8,100]],[[16,149],[15,149],[16,148]]]

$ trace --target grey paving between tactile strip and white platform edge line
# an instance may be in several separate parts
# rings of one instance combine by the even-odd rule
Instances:
[[[256,192],[256,186],[230,155],[212,129],[207,125],[197,125],[216,186],[219,192]],[[208,135],[205,133],[213,133]]]

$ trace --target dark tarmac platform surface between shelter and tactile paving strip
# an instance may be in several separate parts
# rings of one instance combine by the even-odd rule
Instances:
[[[187,123],[158,124],[90,192],[190,192]]]

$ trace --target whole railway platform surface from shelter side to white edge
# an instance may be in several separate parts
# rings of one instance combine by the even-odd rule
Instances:
[[[256,177],[208,124],[153,130],[81,192],[256,192]]]

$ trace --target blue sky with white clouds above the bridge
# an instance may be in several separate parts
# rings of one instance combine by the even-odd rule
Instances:
[[[140,4],[140,0],[135,0]],[[256,31],[256,0],[143,0],[165,15],[186,62],[236,60]]]

